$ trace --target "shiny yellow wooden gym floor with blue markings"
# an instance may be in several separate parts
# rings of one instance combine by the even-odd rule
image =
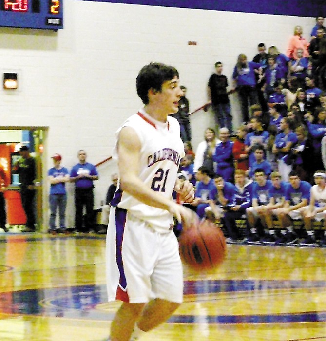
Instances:
[[[0,340],[107,338],[104,254],[99,235],[1,234]],[[184,303],[142,340],[326,340],[326,248],[232,244],[184,279]]]

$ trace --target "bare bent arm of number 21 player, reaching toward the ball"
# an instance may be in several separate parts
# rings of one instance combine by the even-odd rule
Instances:
[[[134,129],[123,127],[118,139],[118,167],[121,189],[146,205],[169,211],[179,222],[182,220],[186,223],[190,222],[192,219],[190,210],[144,186],[144,182],[138,176],[140,149],[141,143]]]

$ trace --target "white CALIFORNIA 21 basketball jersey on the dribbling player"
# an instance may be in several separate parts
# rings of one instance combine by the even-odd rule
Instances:
[[[168,116],[168,121],[162,123],[140,110],[123,123],[117,136],[123,127],[133,128],[140,140],[139,178],[144,186],[172,198],[180,159],[185,154],[179,122]],[[114,156],[117,156],[116,147]],[[145,205],[126,192],[122,193],[117,206],[127,209],[129,215],[147,221],[158,232],[167,232],[173,224],[173,215],[168,211]]]

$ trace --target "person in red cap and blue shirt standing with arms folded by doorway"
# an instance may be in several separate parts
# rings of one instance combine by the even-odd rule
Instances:
[[[54,167],[48,171],[50,180],[50,222],[49,233],[57,234],[58,232],[66,232],[66,206],[67,206],[67,193],[66,182],[69,181],[69,173],[65,167],[61,167],[62,157],[60,154],[54,154],[52,157]],[[59,210],[59,223],[60,228],[56,227],[57,209]]]

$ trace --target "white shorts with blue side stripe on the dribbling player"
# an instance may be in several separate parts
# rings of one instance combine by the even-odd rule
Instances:
[[[119,210],[119,214],[121,211],[126,213],[125,210],[117,210]],[[125,222],[122,224],[122,246],[119,247],[117,233],[113,233],[112,230],[115,227],[120,228],[123,219],[121,219],[121,215],[118,217],[113,213],[116,213],[115,208],[110,212],[107,234],[109,301],[117,298],[130,303],[147,303],[152,299],[159,298],[181,303],[183,299],[183,269],[179,256],[179,244],[173,231],[158,233],[145,221],[127,214]],[[118,218],[115,219],[116,217]],[[119,253],[122,259],[120,265],[117,264],[119,263]],[[114,267],[115,269],[118,267],[119,278],[115,276]],[[117,294],[113,297],[115,289],[117,289]]]

